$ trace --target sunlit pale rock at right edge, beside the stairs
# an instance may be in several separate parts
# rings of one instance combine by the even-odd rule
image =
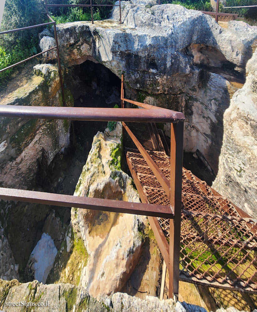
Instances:
[[[246,71],[243,88],[224,113],[219,173],[213,187],[257,218],[257,50]]]

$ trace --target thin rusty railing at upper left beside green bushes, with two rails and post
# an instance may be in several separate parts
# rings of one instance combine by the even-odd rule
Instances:
[[[0,32],[0,35],[5,35],[5,34],[9,34],[11,32],[19,32],[19,31],[24,31],[24,30],[28,30],[28,29],[32,29],[32,28],[37,28],[37,27],[42,27],[42,26],[48,26],[50,27],[50,25],[53,25],[53,29],[54,29],[54,37],[55,37],[55,46],[45,50],[45,51],[42,51],[38,54],[35,54],[33,56],[30,56],[28,57],[27,59],[25,60],[22,60],[18,63],[15,63],[13,65],[10,65],[8,67],[5,67],[3,69],[0,70],[0,73],[3,72],[3,71],[7,71],[8,69],[11,69],[12,67],[14,66],[18,66],[20,64],[23,64],[24,62],[26,61],[29,61],[29,60],[32,60],[33,58],[35,57],[38,57],[38,56],[41,56],[43,55],[44,53],[47,53],[53,49],[56,49],[57,51],[57,61],[58,61],[58,68],[59,68],[59,76],[60,76],[60,84],[61,84],[61,90],[62,90],[62,97],[63,97],[63,106],[65,106],[65,99],[64,99],[64,88],[63,88],[63,78],[62,78],[62,71],[61,71],[61,62],[60,62],[60,54],[59,54],[59,46],[58,46],[58,38],[57,38],[57,32],[56,32],[56,22],[52,19],[52,17],[50,17],[48,14],[47,14],[47,18],[48,18],[48,23],[44,23],[44,24],[39,24],[39,25],[33,25],[33,26],[28,26],[28,27],[23,27],[23,28],[17,28],[17,29],[11,29],[11,30],[7,30],[7,31],[4,31],[4,32]],[[51,20],[51,22],[50,22]]]

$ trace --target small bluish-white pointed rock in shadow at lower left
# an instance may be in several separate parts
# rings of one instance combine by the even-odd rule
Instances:
[[[27,267],[32,271],[33,279],[45,284],[56,255],[57,249],[51,236],[43,233],[28,260]]]

